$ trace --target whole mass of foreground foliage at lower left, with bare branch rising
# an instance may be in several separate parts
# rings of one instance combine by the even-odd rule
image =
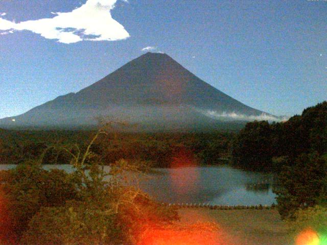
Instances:
[[[0,172],[0,244],[135,244],[148,222],[178,219],[176,210],[128,181],[131,173],[137,181],[139,166],[118,161],[110,173],[103,170],[91,151],[100,134],[106,133],[96,134],[85,151],[76,146],[69,153],[73,173],[34,162]]]

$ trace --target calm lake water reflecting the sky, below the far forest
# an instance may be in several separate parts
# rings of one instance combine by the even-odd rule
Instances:
[[[0,170],[15,165],[0,165]],[[71,165],[44,168],[72,171]],[[108,166],[105,168],[109,169]],[[253,173],[230,166],[155,168],[140,187],[165,203],[206,203],[210,205],[271,205],[275,203],[271,174]]]

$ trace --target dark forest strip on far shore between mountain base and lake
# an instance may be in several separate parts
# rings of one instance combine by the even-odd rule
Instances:
[[[0,164],[42,159],[42,164],[69,164],[84,152],[95,131],[0,131]],[[145,161],[152,167],[170,167],[180,154],[198,165],[229,158],[235,133],[110,133],[92,144],[91,152],[110,165],[120,159]],[[78,147],[77,147],[78,146]]]

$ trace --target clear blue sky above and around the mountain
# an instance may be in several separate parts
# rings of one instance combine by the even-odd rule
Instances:
[[[0,0],[0,118],[77,92],[147,46],[275,115],[299,114],[327,100],[327,1],[88,1],[106,8],[87,9],[84,36],[50,39],[62,34],[49,29],[53,22],[26,21],[72,12],[86,0]],[[57,19],[78,29],[76,16]],[[93,18],[96,24],[89,24]]]

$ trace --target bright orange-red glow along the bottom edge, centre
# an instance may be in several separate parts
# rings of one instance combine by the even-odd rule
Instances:
[[[145,229],[137,245],[227,245],[219,237],[219,229],[212,223],[171,225]]]

